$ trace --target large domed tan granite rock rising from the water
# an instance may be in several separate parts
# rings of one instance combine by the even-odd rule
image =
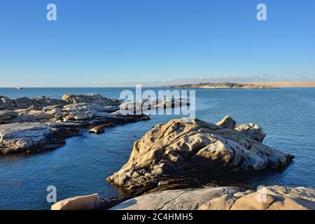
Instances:
[[[181,185],[186,184],[183,177],[211,179],[237,172],[279,169],[291,160],[293,155],[237,130],[198,119],[180,119],[156,125],[136,141],[130,160],[107,180],[128,193],[143,193],[169,185],[169,179]]]

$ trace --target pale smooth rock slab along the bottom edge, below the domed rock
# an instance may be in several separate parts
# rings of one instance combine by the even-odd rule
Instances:
[[[269,186],[165,190],[127,200],[111,210],[307,210],[315,209],[315,189]]]

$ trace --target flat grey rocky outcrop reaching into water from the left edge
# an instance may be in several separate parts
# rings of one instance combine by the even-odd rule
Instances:
[[[144,113],[126,114],[120,110],[120,106],[142,106],[146,101],[123,102],[99,94],[64,94],[61,99],[0,96],[0,155],[47,151],[64,146],[64,139],[83,129],[101,134],[105,127],[148,120]],[[158,109],[181,102],[182,99],[165,99],[153,103]]]

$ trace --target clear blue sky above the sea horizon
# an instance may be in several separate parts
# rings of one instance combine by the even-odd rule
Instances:
[[[313,0],[1,0],[0,86],[315,80],[314,12]]]

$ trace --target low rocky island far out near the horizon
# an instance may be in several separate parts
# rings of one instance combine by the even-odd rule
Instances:
[[[180,89],[279,89],[279,87],[272,85],[254,85],[250,83],[199,83],[168,85],[167,87]]]

